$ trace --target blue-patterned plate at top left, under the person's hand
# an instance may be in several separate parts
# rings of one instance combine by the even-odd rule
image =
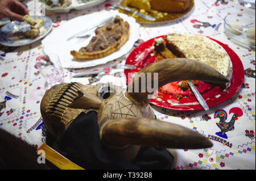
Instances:
[[[13,21],[7,23],[0,29],[0,44],[9,46],[9,47],[18,47],[22,45],[27,45],[42,39],[42,37],[46,36],[49,31],[52,29],[52,20],[47,16],[31,16],[32,18],[43,18],[44,24],[43,27],[46,29],[44,33],[36,37],[35,39],[27,39],[24,37],[22,32],[26,32],[30,30],[30,25],[24,22]],[[15,33],[11,33],[15,31]]]

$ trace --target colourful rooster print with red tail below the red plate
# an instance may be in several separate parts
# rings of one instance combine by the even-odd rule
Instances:
[[[243,115],[243,112],[241,108],[233,107],[229,110],[229,115],[230,114],[232,114],[232,118],[229,122],[227,122],[226,120],[228,118],[228,113],[226,113],[225,110],[217,110],[214,113],[214,118],[220,119],[220,121],[218,121],[216,124],[217,124],[217,127],[220,128],[221,130],[220,132],[217,132],[215,134],[217,134],[222,138],[228,138],[228,136],[226,135],[226,132],[233,131],[236,120],[238,120],[238,117],[241,117]]]

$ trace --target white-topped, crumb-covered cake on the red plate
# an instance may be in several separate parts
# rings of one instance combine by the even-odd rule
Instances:
[[[212,66],[222,75],[232,78],[233,66],[226,51],[215,41],[193,34],[171,33],[165,36],[166,46],[177,57],[197,60]],[[228,87],[226,85],[226,87]]]

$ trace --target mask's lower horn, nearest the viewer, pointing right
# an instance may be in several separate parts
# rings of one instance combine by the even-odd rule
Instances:
[[[143,145],[156,148],[201,149],[213,144],[200,133],[177,124],[148,118],[122,118],[106,122],[100,132],[108,145]]]

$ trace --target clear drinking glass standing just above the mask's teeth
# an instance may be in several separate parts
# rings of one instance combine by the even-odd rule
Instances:
[[[49,87],[62,83],[64,80],[64,71],[57,54],[49,53],[39,57],[36,60],[36,68],[46,79]]]

